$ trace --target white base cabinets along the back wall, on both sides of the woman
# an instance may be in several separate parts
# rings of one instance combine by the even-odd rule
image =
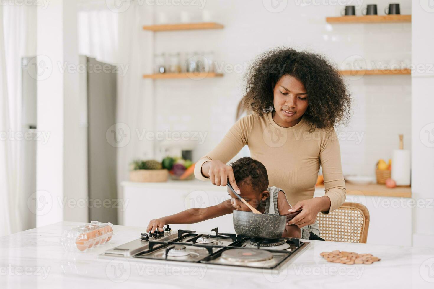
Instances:
[[[123,182],[122,212],[125,226],[146,227],[151,219],[175,214],[188,208],[217,205],[229,198],[226,188],[210,182],[168,181],[161,183]],[[316,188],[315,197],[324,195],[324,188]],[[346,201],[357,202],[368,208],[370,215],[368,244],[411,246],[410,198],[347,195]],[[220,232],[234,233],[232,214],[197,224],[174,224],[175,229],[209,232],[218,227]]]

